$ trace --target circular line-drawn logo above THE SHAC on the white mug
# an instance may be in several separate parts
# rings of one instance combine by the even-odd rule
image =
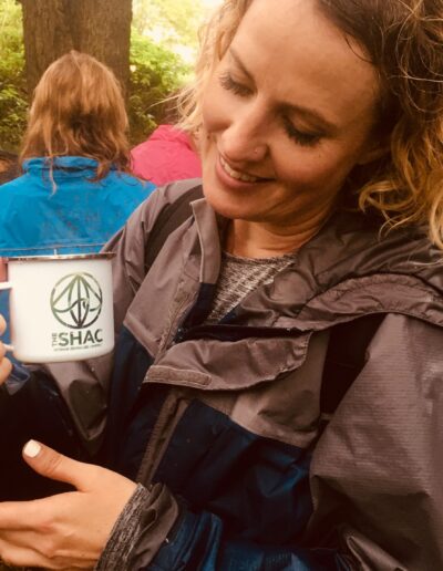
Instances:
[[[91,273],[70,273],[59,280],[51,292],[54,318],[71,329],[92,325],[103,304],[102,289]]]

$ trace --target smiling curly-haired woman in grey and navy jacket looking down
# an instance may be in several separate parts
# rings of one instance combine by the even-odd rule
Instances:
[[[107,246],[112,375],[111,360],[48,367],[114,471],[28,443],[76,491],[1,505],[3,559],[443,567],[442,18],[419,0],[224,2],[185,105],[205,198],[150,262],[156,219],[195,183],[155,193]],[[334,331],[351,343],[374,314],[333,411]]]

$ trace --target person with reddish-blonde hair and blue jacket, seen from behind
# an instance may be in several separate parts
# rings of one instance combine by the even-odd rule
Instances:
[[[23,175],[0,193],[0,256],[94,252],[154,185],[132,176],[123,95],[112,71],[71,51],[35,87]]]

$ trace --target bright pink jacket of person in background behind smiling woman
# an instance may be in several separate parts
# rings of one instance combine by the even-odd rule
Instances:
[[[172,125],[159,125],[131,153],[134,174],[157,186],[202,176],[200,159],[189,136]]]

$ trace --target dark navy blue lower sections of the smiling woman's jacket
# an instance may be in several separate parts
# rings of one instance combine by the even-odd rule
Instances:
[[[143,383],[153,357],[126,329],[116,355],[107,464],[135,478],[171,390]],[[310,459],[192,399],[153,476],[179,499],[182,518],[150,569],[340,569],[333,551],[298,551],[312,513]]]

